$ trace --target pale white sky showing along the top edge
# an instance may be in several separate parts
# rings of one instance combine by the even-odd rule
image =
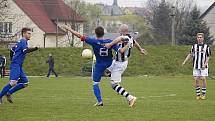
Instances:
[[[86,2],[90,3],[104,3],[111,5],[113,4],[113,0],[84,0]],[[118,0],[118,5],[125,7],[125,6],[132,6],[132,7],[142,7],[144,6],[144,3],[147,0]],[[214,0],[194,0],[197,3],[197,6],[199,6],[201,9],[205,10],[207,9],[210,5],[215,2]]]

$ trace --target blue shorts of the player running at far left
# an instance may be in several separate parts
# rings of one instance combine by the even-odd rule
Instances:
[[[19,80],[20,79],[20,80]],[[28,78],[19,64],[10,64],[10,81],[16,80],[18,83],[28,83]]]

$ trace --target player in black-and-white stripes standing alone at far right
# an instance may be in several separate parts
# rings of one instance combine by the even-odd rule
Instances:
[[[208,76],[208,62],[211,56],[210,47],[204,43],[204,33],[197,34],[197,43],[191,48],[190,53],[182,63],[182,66],[191,57],[193,58],[193,77],[196,82],[196,99],[206,99],[206,77]],[[202,80],[202,85],[200,81]],[[201,86],[201,88],[200,88]],[[202,89],[202,94],[200,93]]]

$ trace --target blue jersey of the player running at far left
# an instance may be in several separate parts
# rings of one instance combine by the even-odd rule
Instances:
[[[26,56],[26,50],[28,48],[28,42],[26,39],[22,38],[18,43],[12,48],[13,57],[11,63],[22,65]]]

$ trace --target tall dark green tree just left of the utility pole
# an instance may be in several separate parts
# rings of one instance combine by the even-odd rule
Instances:
[[[152,3],[152,1],[149,1]],[[153,43],[154,44],[167,44],[171,43],[171,7],[165,1],[162,0],[159,4],[158,1],[154,0],[151,4],[152,17],[149,21],[152,25]]]

